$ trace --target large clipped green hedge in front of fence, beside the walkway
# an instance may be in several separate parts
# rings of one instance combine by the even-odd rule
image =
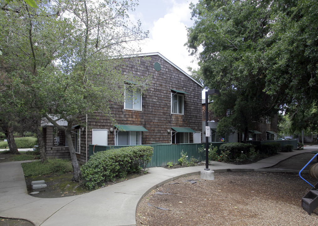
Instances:
[[[153,147],[131,146],[97,152],[81,167],[84,184],[96,188],[116,177],[125,178],[127,173],[139,173],[141,166],[151,160]]]

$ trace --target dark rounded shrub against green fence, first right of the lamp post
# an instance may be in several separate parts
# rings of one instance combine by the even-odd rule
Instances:
[[[221,154],[228,154],[229,161],[235,161],[241,154],[249,153],[251,148],[250,144],[243,143],[225,143],[220,146]],[[220,154],[220,155],[221,155]]]

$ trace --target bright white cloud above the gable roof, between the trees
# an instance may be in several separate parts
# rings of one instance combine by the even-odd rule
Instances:
[[[141,3],[142,4],[142,3]],[[171,5],[172,4],[172,5]],[[142,12],[138,13],[142,18]],[[160,52],[185,72],[188,72],[187,66],[197,68],[196,63],[191,63],[193,56],[189,56],[188,50],[184,44],[187,42],[186,26],[191,26],[191,10],[187,1],[170,2],[166,12],[162,12],[159,18],[153,20],[149,30],[149,38],[141,45],[142,52]],[[143,23],[144,24],[144,23]]]

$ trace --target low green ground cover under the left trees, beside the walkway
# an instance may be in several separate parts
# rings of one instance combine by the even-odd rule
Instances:
[[[63,159],[22,163],[22,168],[25,176],[62,175],[73,171],[71,161]]]

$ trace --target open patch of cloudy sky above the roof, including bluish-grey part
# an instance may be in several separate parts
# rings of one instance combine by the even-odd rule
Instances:
[[[142,29],[149,30],[149,38],[141,45],[142,53],[159,52],[183,71],[197,68],[184,44],[186,27],[193,24],[189,4],[191,0],[139,0],[139,6],[131,19],[142,22]],[[192,0],[197,3],[197,0]]]

